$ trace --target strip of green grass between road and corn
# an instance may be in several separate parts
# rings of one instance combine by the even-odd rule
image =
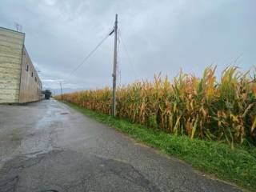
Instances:
[[[182,159],[197,170],[256,191],[256,148],[253,146],[235,146],[235,149],[231,150],[230,146],[223,142],[190,140],[186,136],[177,137],[65,103],[74,110],[128,134],[147,146],[153,146],[165,154]]]

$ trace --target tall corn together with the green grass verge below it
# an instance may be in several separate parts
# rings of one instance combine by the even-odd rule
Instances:
[[[202,78],[180,72],[172,82],[156,75],[154,82],[119,87],[118,118],[108,115],[108,87],[63,94],[62,100],[199,170],[255,190],[255,73],[230,66],[217,81],[215,70],[206,68]]]

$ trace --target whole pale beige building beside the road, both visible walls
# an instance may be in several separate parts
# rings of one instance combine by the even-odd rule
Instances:
[[[25,34],[0,27],[0,103],[35,102],[42,82],[24,46]]]

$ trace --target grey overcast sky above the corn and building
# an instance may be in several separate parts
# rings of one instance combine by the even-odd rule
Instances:
[[[218,74],[236,58],[249,70],[256,64],[254,0],[1,0],[0,26],[26,33],[25,46],[45,87],[90,89],[111,86],[114,36],[69,78],[70,72],[110,32],[118,14],[118,84],[170,78],[182,69],[198,76],[206,66]]]

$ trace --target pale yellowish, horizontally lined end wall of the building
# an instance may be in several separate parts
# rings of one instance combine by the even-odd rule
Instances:
[[[25,34],[0,27],[0,103],[18,102]]]

